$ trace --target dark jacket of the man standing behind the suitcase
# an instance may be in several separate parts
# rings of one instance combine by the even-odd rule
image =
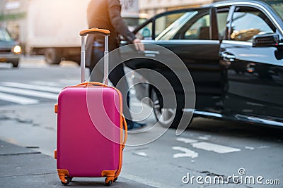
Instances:
[[[88,4],[87,18],[88,27],[97,27],[100,29],[110,30],[109,50],[112,51],[119,47],[120,39],[118,35],[122,35],[128,42],[133,42],[135,37],[128,30],[127,24],[120,15],[120,0],[91,0]],[[91,54],[93,49],[93,41],[104,44],[103,35],[88,35],[86,40],[86,66],[91,65]],[[95,62],[97,63],[97,62]]]

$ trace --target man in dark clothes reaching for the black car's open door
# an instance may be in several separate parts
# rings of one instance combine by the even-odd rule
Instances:
[[[112,51],[120,46],[120,37],[122,35],[127,42],[133,43],[137,50],[144,51],[144,44],[137,39],[132,32],[128,30],[127,24],[121,17],[120,0],[91,0],[87,9],[88,27],[101,28],[110,30],[109,50]],[[103,35],[88,35],[86,40],[86,65],[90,68],[91,80],[101,82],[103,80],[103,68],[96,68],[96,72],[92,73],[93,68],[104,55],[104,37]],[[100,66],[100,65],[98,65]],[[110,65],[113,67],[113,65]],[[143,127],[145,123],[137,123],[132,121],[129,112],[129,86],[125,78],[124,66],[122,63],[117,65],[108,75],[109,80],[118,88],[123,96],[127,96],[127,100],[123,100],[123,113],[127,120],[128,129]]]

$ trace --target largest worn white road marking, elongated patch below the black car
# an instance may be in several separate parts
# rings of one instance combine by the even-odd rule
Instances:
[[[222,146],[219,144],[212,144],[208,142],[193,143],[192,147],[197,149],[203,149],[206,151],[214,151],[216,153],[231,153],[231,152],[241,151],[241,149],[236,149],[229,146]]]

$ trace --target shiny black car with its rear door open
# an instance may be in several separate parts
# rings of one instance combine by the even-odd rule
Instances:
[[[283,126],[282,19],[283,1],[221,1],[161,13],[134,32],[144,44],[173,51],[190,70],[196,92],[194,117]],[[126,65],[156,70],[171,80],[168,69],[149,61],[134,59]],[[172,85],[182,96],[178,84]],[[183,112],[192,111],[183,108],[179,96],[176,109],[163,109],[160,94],[150,84],[138,85],[137,94],[142,92],[154,101],[154,113],[164,126],[177,127]]]

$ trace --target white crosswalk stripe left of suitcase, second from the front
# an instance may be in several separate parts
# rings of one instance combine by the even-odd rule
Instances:
[[[4,86],[0,86],[0,92],[36,96],[45,99],[58,99],[58,94],[51,94],[47,92],[36,92],[28,89],[17,89],[17,88],[4,87]]]

